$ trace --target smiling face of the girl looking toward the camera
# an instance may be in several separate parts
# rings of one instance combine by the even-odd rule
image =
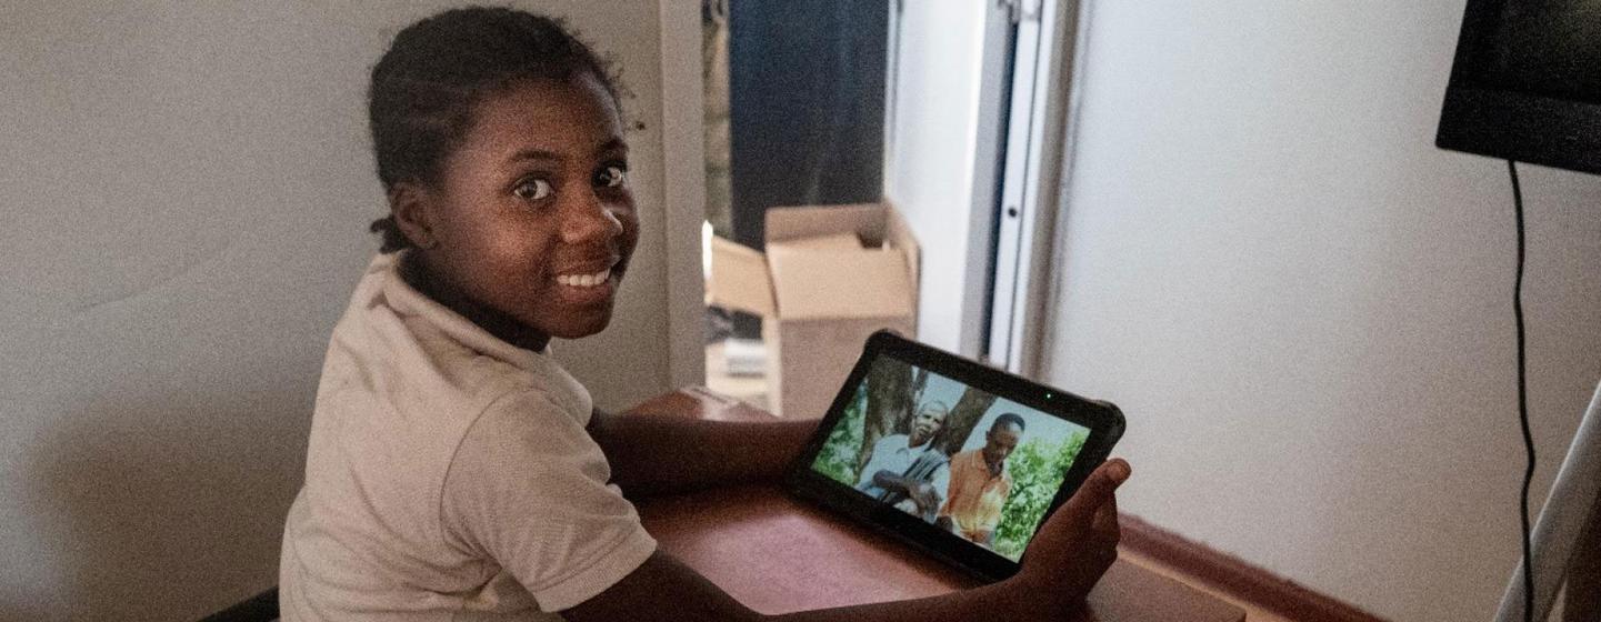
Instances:
[[[426,291],[533,350],[599,333],[639,241],[612,98],[581,74],[517,83],[474,112],[439,182],[415,189],[410,208],[391,197],[408,235],[424,237],[413,253]]]

